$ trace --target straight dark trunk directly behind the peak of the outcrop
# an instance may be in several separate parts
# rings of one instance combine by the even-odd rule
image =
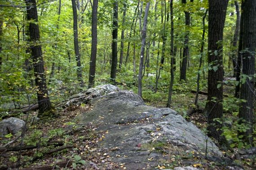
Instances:
[[[113,31],[112,31],[112,63],[110,81],[115,85],[116,65],[117,65],[117,31],[118,31],[118,1],[113,4]]]

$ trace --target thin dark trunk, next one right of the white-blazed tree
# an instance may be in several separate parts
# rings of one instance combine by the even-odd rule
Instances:
[[[168,101],[166,107],[171,107],[172,104],[172,87],[174,81],[174,28],[173,28],[173,0],[170,0],[170,12],[171,12],[171,79],[169,85]]]

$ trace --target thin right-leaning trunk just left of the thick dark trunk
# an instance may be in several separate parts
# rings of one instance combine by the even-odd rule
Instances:
[[[198,68],[198,72],[197,72],[197,87],[196,87],[196,94],[195,94],[195,100],[194,100],[194,105],[198,106],[198,94],[199,94],[199,89],[200,89],[200,72],[201,72],[201,67],[202,67],[202,63],[203,63],[203,47],[204,47],[204,35],[205,35],[205,18],[206,15],[208,13],[208,9],[206,9],[205,13],[203,14],[203,34],[202,34],[202,42],[201,42],[201,49],[200,49],[200,61],[199,61],[199,68]]]

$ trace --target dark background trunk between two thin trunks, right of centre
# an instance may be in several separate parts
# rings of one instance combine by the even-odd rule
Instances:
[[[193,2],[194,0],[190,0]],[[186,4],[186,0],[181,0],[182,4]],[[184,11],[185,13],[185,37],[184,37],[184,47],[183,47],[183,56],[181,63],[181,75],[180,80],[186,80],[187,64],[188,64],[188,55],[189,55],[189,26],[190,26],[190,12]]]

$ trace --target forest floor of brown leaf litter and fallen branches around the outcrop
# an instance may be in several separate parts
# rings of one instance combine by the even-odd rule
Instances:
[[[225,94],[230,94],[233,87],[226,86]],[[144,100],[147,105],[155,107],[165,107],[167,99],[164,93],[162,98],[155,100],[155,97],[146,95]],[[202,112],[195,112],[192,115],[186,115],[186,111],[194,105],[194,93],[174,91],[172,109],[177,110],[179,114],[183,115],[185,119],[194,123],[197,127],[203,129],[206,127],[206,118]],[[159,97],[159,96],[158,96]],[[207,95],[199,95],[199,101],[203,105]],[[192,103],[192,104],[191,104]],[[182,108],[182,109],[181,109]],[[115,163],[111,161],[108,150],[100,149],[98,142],[104,140],[104,135],[107,132],[97,131],[97,127],[87,124],[83,127],[76,126],[74,119],[76,116],[86,113],[91,109],[90,105],[71,106],[65,110],[57,112],[57,117],[52,119],[43,119],[31,124],[28,122],[28,130],[24,138],[20,138],[12,146],[18,148],[23,143],[28,146],[35,146],[29,149],[22,148],[18,151],[0,150],[0,170],[8,168],[23,167],[22,170],[50,170],[54,168],[61,169],[97,169],[97,170],[112,170],[112,169],[126,169],[125,164]],[[37,114],[36,111],[31,111],[29,119]],[[232,116],[232,115],[230,115]],[[26,119],[23,115],[21,119]],[[54,122],[54,123],[53,123]],[[70,128],[72,125],[73,128]],[[10,136],[8,140],[0,140],[0,145],[13,140]],[[164,146],[167,147],[168,145]],[[9,146],[9,148],[11,148]],[[0,148],[1,149],[1,148]],[[24,150],[23,150],[24,149]],[[233,152],[224,152],[227,157],[234,159]],[[204,161],[198,162],[200,157],[181,157],[168,153],[170,159],[166,162],[160,163],[156,169],[174,168],[177,166],[199,167],[203,169],[224,170],[226,166],[215,166],[213,162]],[[150,160],[149,160],[150,161]],[[246,170],[253,170],[255,162],[252,160],[235,160],[238,165]]]

